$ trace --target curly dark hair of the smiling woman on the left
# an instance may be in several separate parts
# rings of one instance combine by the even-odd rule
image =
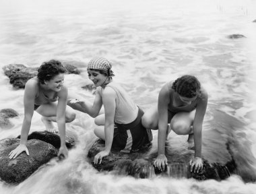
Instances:
[[[49,81],[53,79],[53,77],[55,77],[55,75],[58,75],[59,73],[66,72],[61,62],[54,59],[42,63],[37,71],[37,77],[40,84],[44,84],[44,81]]]

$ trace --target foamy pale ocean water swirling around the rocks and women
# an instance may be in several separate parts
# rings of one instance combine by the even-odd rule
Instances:
[[[86,64],[94,56],[113,61],[116,82],[147,110],[164,83],[185,74],[198,77],[209,99],[203,131],[226,121],[242,158],[256,172],[256,1],[0,1],[0,67],[43,61],[71,61],[82,71],[65,75],[69,94],[93,100],[81,87],[90,84]],[[230,34],[246,38],[229,39]],[[0,109],[20,116],[0,139],[20,134],[24,90],[15,90],[1,71]],[[213,112],[222,112],[217,117]],[[232,118],[232,119],[230,119]],[[241,124],[242,123],[242,124]],[[222,126],[222,125],[220,125]],[[0,182],[0,193],[255,193],[256,183],[238,175],[225,181],[153,176],[135,179],[95,170],[88,149],[96,139],[94,119],[81,112],[67,124],[79,135],[77,148],[63,162],[51,160],[17,186]],[[34,112],[32,131],[42,131]],[[222,131],[222,127],[219,129]],[[224,128],[223,128],[224,130]],[[154,131],[156,139],[157,132]],[[214,148],[213,148],[214,149]],[[248,155],[250,154],[251,155]]]

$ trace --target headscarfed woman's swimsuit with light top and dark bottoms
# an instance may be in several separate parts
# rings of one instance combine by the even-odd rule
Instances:
[[[114,117],[117,128],[114,130],[113,147],[121,152],[135,152],[152,141],[151,130],[141,124],[144,112],[134,104],[121,86],[110,82],[106,85],[107,87],[112,88],[117,94]],[[102,90],[100,90],[100,95],[102,95]]]

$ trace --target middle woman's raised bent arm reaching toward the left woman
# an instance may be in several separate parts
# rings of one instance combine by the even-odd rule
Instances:
[[[95,118],[98,116],[100,108],[102,107],[102,97],[100,96],[99,90],[100,88],[97,88],[93,104],[86,100],[79,100],[77,103],[72,103],[71,101],[69,101],[67,102],[67,105],[71,106],[75,110],[85,112],[91,117]]]

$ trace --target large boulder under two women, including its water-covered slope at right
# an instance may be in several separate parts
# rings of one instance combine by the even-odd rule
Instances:
[[[209,107],[209,109],[211,109]],[[198,180],[222,180],[231,174],[238,174],[243,181],[256,181],[256,161],[249,151],[250,145],[246,135],[239,132],[245,126],[238,119],[225,112],[212,110],[206,131],[203,131],[202,152],[203,170],[199,173],[190,172],[189,161],[194,155],[187,143],[187,135],[176,135],[173,131],[166,141],[166,158],[168,165],[161,172],[154,168],[153,163],[157,157],[157,136],[154,136],[152,146],[141,152],[125,154],[115,149],[102,160],[102,164],[94,164],[94,156],[104,150],[104,141],[96,141],[88,151],[88,159],[92,166],[99,171],[113,171],[117,174],[128,174],[138,178],[152,176],[187,177]],[[237,134],[239,136],[237,137]],[[242,143],[241,143],[242,142]]]

